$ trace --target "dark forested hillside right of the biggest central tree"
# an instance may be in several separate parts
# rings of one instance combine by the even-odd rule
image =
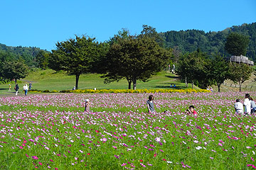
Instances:
[[[218,32],[204,32],[203,30],[180,30],[159,33],[164,38],[165,47],[176,48],[181,52],[193,52],[198,48],[203,52],[220,52],[227,55],[224,46],[229,33],[236,32],[250,37],[247,57],[256,59],[256,23],[244,23],[242,26],[232,26]]]

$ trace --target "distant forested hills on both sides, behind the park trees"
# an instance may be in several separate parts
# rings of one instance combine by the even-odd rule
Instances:
[[[229,33],[236,32],[250,37],[247,57],[256,62],[256,23],[244,23],[242,26],[232,26],[218,32],[208,32],[203,30],[170,30],[159,33],[164,39],[164,47],[175,48],[180,52],[194,52],[198,48],[208,54],[220,52],[229,56],[224,50],[225,41]],[[39,47],[11,47],[0,43],[0,60],[23,59],[28,67],[38,67],[36,55],[41,50]]]

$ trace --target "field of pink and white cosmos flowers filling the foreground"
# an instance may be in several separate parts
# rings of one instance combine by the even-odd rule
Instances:
[[[146,93],[1,97],[0,169],[256,169],[255,115],[233,108],[244,95],[158,93],[156,113]]]

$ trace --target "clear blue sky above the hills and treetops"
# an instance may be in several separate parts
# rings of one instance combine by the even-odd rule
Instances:
[[[1,0],[0,43],[55,49],[55,43],[89,35],[109,40],[142,25],[168,30],[219,31],[256,22],[255,0]]]

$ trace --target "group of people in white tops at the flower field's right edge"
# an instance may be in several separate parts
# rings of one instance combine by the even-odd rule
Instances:
[[[244,110],[245,108],[245,110]],[[245,94],[244,103],[240,102],[240,99],[235,101],[235,113],[238,115],[252,115],[256,112],[255,101],[250,97],[250,94]]]

